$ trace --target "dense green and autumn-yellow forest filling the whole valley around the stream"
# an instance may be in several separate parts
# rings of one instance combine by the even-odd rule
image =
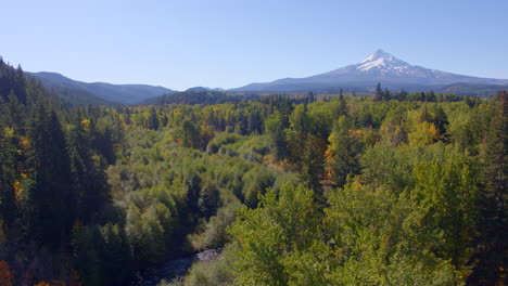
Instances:
[[[160,285],[506,282],[507,92],[153,104],[73,107],[0,61],[0,285],[203,249]]]

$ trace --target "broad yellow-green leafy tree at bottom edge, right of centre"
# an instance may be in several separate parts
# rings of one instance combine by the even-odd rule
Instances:
[[[354,182],[331,193],[326,210],[335,285],[453,285],[446,260],[414,240],[406,220],[410,208],[384,188]]]

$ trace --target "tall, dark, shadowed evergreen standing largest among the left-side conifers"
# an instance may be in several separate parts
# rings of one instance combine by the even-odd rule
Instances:
[[[58,247],[68,238],[76,198],[72,192],[67,146],[56,113],[40,105],[29,135],[35,180],[29,190],[30,231],[42,244]]]

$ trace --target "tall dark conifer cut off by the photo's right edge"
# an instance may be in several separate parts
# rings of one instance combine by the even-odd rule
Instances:
[[[506,264],[508,236],[508,213],[506,202],[508,192],[508,93],[500,92],[496,115],[491,121],[484,140],[483,190],[480,193],[479,237],[473,273],[470,285],[501,285],[506,281],[503,269]]]

